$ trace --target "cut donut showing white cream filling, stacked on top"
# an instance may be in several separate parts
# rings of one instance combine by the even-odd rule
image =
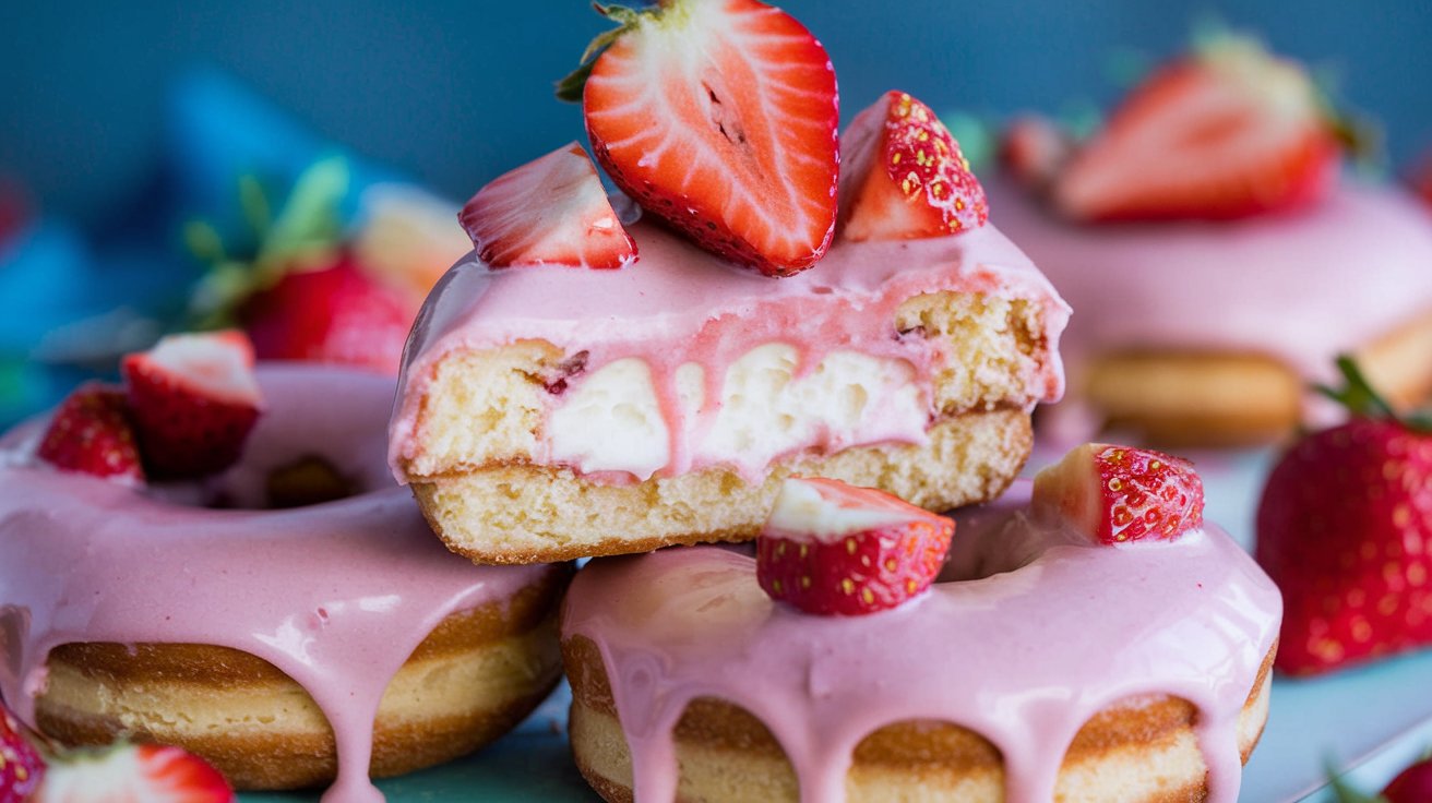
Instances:
[[[992,225],[772,281],[647,222],[617,271],[458,263],[390,461],[448,547],[531,563],[755,537],[790,474],[992,498],[1063,391],[1068,308]]]

